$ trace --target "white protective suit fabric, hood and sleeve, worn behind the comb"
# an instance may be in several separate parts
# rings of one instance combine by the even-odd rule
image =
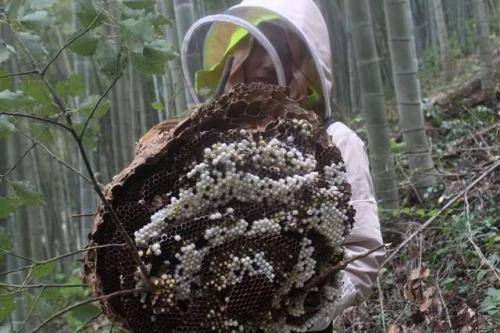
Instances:
[[[256,20],[258,17],[269,14],[277,15],[287,28],[300,36],[308,47],[318,70],[322,94],[327,101],[325,103],[327,105],[325,116],[331,116],[330,103],[328,102],[332,88],[330,40],[322,13],[312,0],[244,0],[241,4],[228,9],[224,14],[254,23],[258,22]],[[215,27],[214,29],[212,27],[212,29],[212,34],[219,34],[218,41],[231,35],[230,31],[224,30],[225,28]],[[234,30],[234,26],[228,29]],[[213,38],[213,36],[211,37]],[[186,39],[189,38],[190,36]],[[210,48],[210,52],[222,54],[224,51],[225,45],[215,48],[212,45]],[[183,65],[187,66],[187,64]],[[186,74],[186,68],[183,69]],[[188,83],[191,80],[189,75],[186,76],[186,79]],[[348,182],[352,186],[351,200],[356,209],[356,215],[352,232],[345,241],[346,254],[348,257],[352,257],[383,244],[368,158],[362,140],[343,123],[334,122],[327,131],[331,135],[333,143],[342,153]],[[368,295],[377,278],[384,255],[385,250],[380,249],[347,266],[343,276],[342,299],[338,307],[331,313],[328,320],[318,323],[312,331],[325,329],[343,310]]]

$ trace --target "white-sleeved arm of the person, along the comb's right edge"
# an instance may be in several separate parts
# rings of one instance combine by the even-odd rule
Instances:
[[[346,256],[366,253],[383,244],[377,203],[370,176],[368,157],[363,141],[344,124],[337,122],[328,128],[333,143],[344,159],[347,181],[351,184],[351,202],[356,210],[351,233],[344,242]],[[343,272],[342,297],[330,317],[319,322],[311,331],[325,329],[343,310],[367,297],[375,282],[385,250],[351,262]]]

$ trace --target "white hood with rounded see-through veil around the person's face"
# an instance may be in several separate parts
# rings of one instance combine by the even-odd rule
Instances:
[[[330,41],[312,0],[244,0],[195,22],[181,53],[195,103],[212,98],[221,81],[225,90],[258,81],[286,86],[303,107],[331,116]]]

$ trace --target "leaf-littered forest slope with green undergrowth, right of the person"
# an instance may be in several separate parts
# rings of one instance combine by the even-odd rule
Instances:
[[[473,76],[464,77],[452,90]],[[339,332],[500,332],[500,168],[442,209],[500,161],[498,106],[483,105],[480,93],[463,94],[444,105],[436,105],[444,93],[429,98],[438,185],[425,198],[403,171],[402,139],[393,142],[403,202],[397,212],[382,212],[384,241],[393,244],[388,253],[432,222],[385,265],[371,298],[339,318]]]

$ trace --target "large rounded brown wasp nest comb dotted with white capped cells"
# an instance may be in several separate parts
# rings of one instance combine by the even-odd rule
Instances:
[[[103,309],[134,332],[307,331],[340,292],[328,272],[344,258],[350,195],[313,112],[276,86],[238,85],[107,186],[153,287]],[[90,245],[123,242],[100,207]],[[124,247],[88,251],[85,274],[97,295],[146,286]]]

